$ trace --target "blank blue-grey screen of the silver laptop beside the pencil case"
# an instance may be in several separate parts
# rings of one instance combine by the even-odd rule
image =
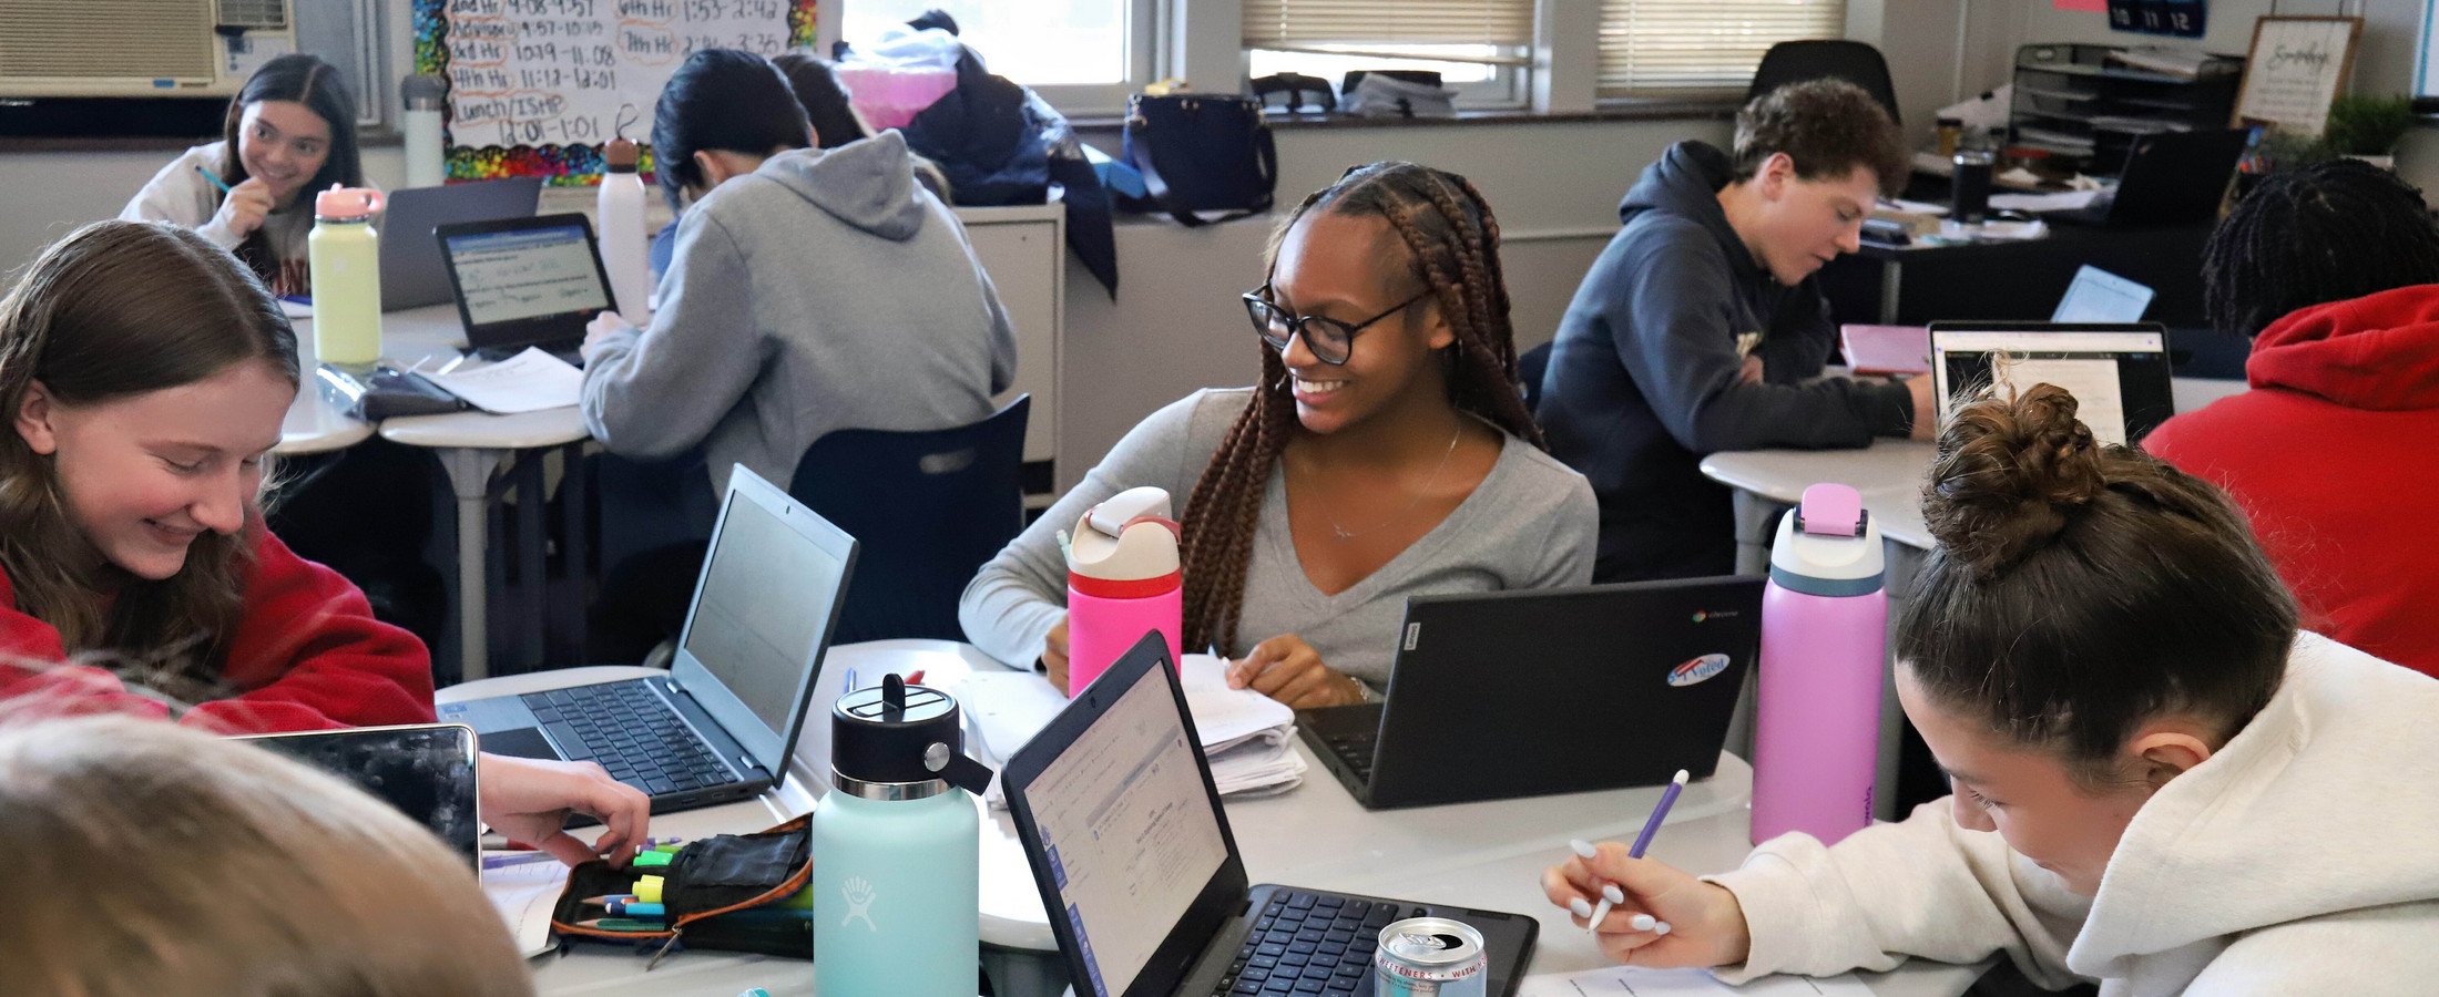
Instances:
[[[673,680],[778,778],[856,541],[744,466],[695,580]]]

